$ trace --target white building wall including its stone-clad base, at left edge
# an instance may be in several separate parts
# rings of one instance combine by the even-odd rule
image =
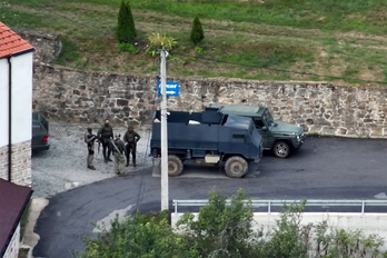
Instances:
[[[31,186],[33,52],[11,58],[12,64],[12,175],[11,181]],[[0,178],[9,180],[8,106],[9,63],[0,59]]]

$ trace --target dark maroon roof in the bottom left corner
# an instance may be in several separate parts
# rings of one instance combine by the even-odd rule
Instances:
[[[0,178],[0,257],[4,255],[31,195],[31,188]]]

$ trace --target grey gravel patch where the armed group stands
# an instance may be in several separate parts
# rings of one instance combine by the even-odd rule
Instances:
[[[113,130],[115,135],[121,133],[122,139],[127,129],[113,127]],[[102,145],[98,153],[97,141],[93,160],[97,170],[87,169],[88,150],[83,141],[86,131],[86,126],[50,122],[50,149],[32,153],[33,197],[49,198],[75,187],[117,177],[115,162],[103,162]],[[92,132],[97,131],[98,128],[93,128]],[[130,163],[126,167],[128,172],[152,166],[152,159],[148,157],[150,129],[136,131],[141,136],[137,143],[137,168]]]

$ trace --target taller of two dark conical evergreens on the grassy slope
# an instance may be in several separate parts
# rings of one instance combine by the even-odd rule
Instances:
[[[131,42],[137,37],[131,8],[129,2],[126,2],[126,0],[121,1],[120,10],[118,12],[116,37],[120,43]]]

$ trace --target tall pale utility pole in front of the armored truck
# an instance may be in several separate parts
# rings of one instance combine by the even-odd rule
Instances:
[[[166,51],[161,50],[161,210],[169,210]]]

